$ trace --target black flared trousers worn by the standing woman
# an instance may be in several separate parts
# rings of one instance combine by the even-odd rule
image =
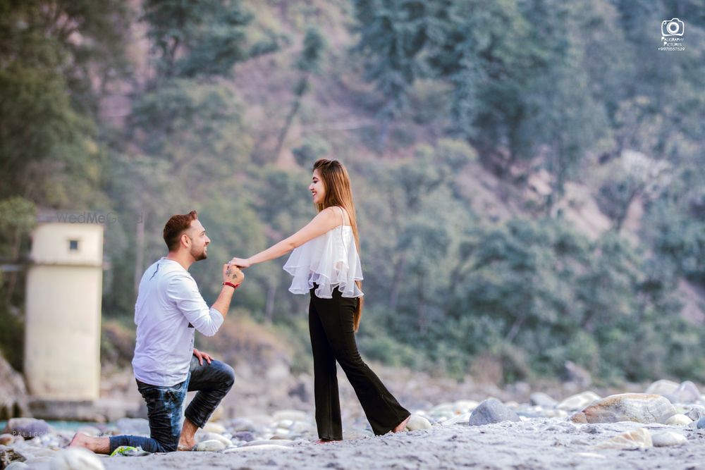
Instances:
[[[372,431],[376,435],[388,433],[410,413],[397,402],[357,352],[353,314],[358,299],[342,297],[337,288],[333,289],[332,299],[319,299],[314,290],[315,287],[311,290],[309,304],[309,332],[319,438],[343,439],[336,360],[353,385]]]

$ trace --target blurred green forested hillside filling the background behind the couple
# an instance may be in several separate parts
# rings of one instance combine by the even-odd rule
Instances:
[[[702,6],[0,0],[2,256],[26,254],[35,207],[111,211],[103,309],[130,323],[164,222],[197,209],[212,245],[192,273],[210,302],[221,264],[309,221],[310,168],[333,156],[353,178],[367,357],[505,381],[568,360],[606,381],[704,381],[680,290],[705,288]],[[661,53],[653,25],[673,17],[686,50]],[[128,89],[124,120],[99,112],[106,89]],[[522,199],[540,171],[548,190]],[[563,216],[572,182],[612,230]],[[487,193],[506,210],[485,213]],[[282,264],[248,270],[235,304],[289,333],[305,371],[307,299]],[[1,283],[15,366],[19,282]]]

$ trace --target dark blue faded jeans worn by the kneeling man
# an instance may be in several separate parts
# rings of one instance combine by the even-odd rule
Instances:
[[[221,361],[203,361],[191,358],[186,380],[171,387],[159,387],[137,381],[137,389],[147,402],[149,438],[140,435],[114,435],[110,438],[110,452],[121,445],[141,446],[147,452],[173,452],[181,434],[181,405],[186,392],[197,391],[186,408],[184,416],[202,428],[223,397],[235,382],[233,368]]]

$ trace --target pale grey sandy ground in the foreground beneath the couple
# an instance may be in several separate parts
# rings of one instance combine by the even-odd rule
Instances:
[[[424,431],[288,448],[247,447],[237,452],[173,452],[146,457],[104,457],[106,469],[705,469],[705,429],[680,428],[678,447],[612,450],[609,438],[645,427],[638,423],[579,424],[529,419],[486,426],[436,425]],[[276,440],[272,441],[276,445]]]

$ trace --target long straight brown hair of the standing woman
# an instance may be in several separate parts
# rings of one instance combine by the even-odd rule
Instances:
[[[357,216],[355,214],[355,201],[353,199],[353,190],[350,187],[350,175],[345,169],[343,163],[338,160],[319,159],[314,163],[313,169],[318,170],[326,187],[326,195],[323,202],[315,204],[318,211],[326,209],[326,207],[341,206],[350,217],[350,225],[353,227],[353,235],[355,236],[355,245],[357,252],[360,253],[360,235],[357,233]],[[344,223],[345,221],[343,221]],[[356,280],[357,288],[362,290],[362,281]],[[362,318],[362,304],[364,297],[358,297],[357,309],[353,315],[355,331],[360,328],[360,319]]]

